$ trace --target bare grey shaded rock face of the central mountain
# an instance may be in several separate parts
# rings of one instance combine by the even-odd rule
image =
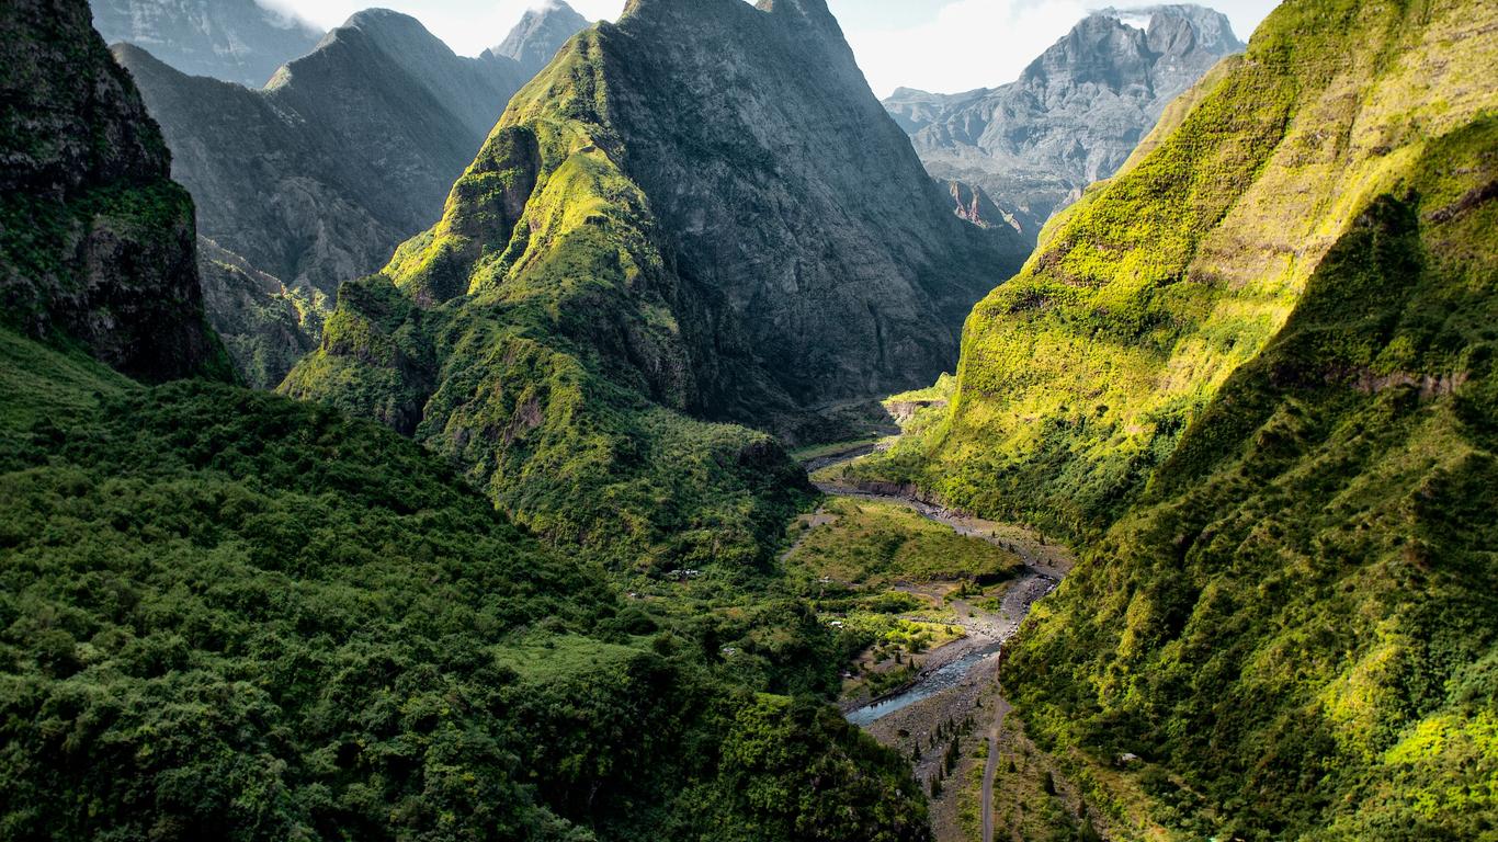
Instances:
[[[703,313],[683,319],[703,411],[764,424],[947,370],[1026,249],[950,213],[825,3],[629,9],[605,40],[610,117]]]

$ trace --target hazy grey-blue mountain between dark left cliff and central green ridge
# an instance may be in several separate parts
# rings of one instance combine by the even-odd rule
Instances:
[[[377,270],[442,214],[529,78],[509,58],[458,57],[416,19],[377,9],[264,90],[187,76],[132,45],[115,57],[198,202],[214,327],[262,388],[316,345],[342,280]]]

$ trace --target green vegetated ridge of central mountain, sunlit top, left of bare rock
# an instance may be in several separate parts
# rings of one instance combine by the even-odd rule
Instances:
[[[431,232],[345,285],[283,388],[413,434],[553,542],[743,580],[809,488],[770,436],[683,414],[676,280],[616,165],[601,37],[511,103]]]

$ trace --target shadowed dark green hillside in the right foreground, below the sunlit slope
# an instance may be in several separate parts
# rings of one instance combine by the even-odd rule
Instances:
[[[1182,838],[1498,833],[1495,186],[1492,114],[1423,142],[1010,662]]]

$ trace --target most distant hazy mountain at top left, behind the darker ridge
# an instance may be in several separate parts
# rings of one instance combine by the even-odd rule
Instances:
[[[91,0],[94,27],[190,76],[258,88],[306,55],[322,31],[256,0]]]

